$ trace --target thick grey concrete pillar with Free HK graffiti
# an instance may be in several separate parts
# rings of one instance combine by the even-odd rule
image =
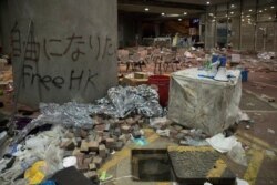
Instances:
[[[9,0],[8,9],[20,102],[90,102],[116,85],[116,0]]]

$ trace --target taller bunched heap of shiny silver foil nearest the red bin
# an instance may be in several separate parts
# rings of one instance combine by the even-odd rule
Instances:
[[[161,116],[163,109],[158,104],[157,92],[147,85],[115,86],[107,91],[107,96],[96,101],[92,113],[112,117],[126,117],[137,113],[146,117]]]

